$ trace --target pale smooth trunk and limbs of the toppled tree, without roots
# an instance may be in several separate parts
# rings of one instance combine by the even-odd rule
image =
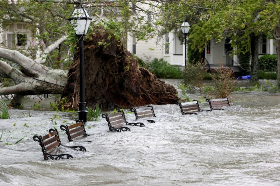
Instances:
[[[15,82],[13,86],[0,88],[0,95],[62,93],[67,82],[67,71],[48,68],[24,56],[18,51],[3,48],[0,48],[0,58],[16,62],[20,65],[22,70],[19,71],[0,60],[0,71]],[[18,101],[19,100],[20,99],[18,99]]]

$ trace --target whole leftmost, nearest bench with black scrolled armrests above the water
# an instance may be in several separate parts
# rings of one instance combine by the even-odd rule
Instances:
[[[55,149],[58,149],[58,147],[62,145],[56,129],[51,128],[49,130],[49,134],[44,136],[34,135],[33,140],[35,142],[39,142],[39,145],[42,147],[42,152],[45,160],[48,159],[60,160],[60,159],[73,158],[73,156],[70,154],[51,154],[51,152],[53,152]],[[65,147],[75,149],[78,151],[87,151],[83,146],[65,146]]]

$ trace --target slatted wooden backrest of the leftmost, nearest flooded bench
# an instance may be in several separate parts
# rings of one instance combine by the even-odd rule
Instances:
[[[61,144],[57,130],[52,128],[47,135],[34,135],[33,140],[39,142],[45,159],[47,158],[46,152],[57,148]]]

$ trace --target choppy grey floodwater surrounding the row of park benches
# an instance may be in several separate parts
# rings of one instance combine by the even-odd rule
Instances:
[[[10,110],[11,118],[0,120],[0,185],[280,185],[279,98],[234,93],[231,107],[198,115],[154,105],[155,123],[142,119],[145,127],[114,133],[99,118],[87,122],[90,136],[71,143],[59,126],[75,122],[73,113],[30,110],[29,117],[29,110]],[[126,118],[135,121],[133,114]],[[87,152],[61,146],[74,159],[43,160],[32,137],[54,127],[62,144]]]

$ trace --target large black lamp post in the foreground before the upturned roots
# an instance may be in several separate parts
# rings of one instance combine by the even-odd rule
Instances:
[[[82,4],[78,4],[68,19],[79,38],[80,44],[80,102],[79,102],[79,120],[87,122],[87,107],[85,102],[85,65],[84,65],[84,35],[88,32],[88,27],[92,18]]]

